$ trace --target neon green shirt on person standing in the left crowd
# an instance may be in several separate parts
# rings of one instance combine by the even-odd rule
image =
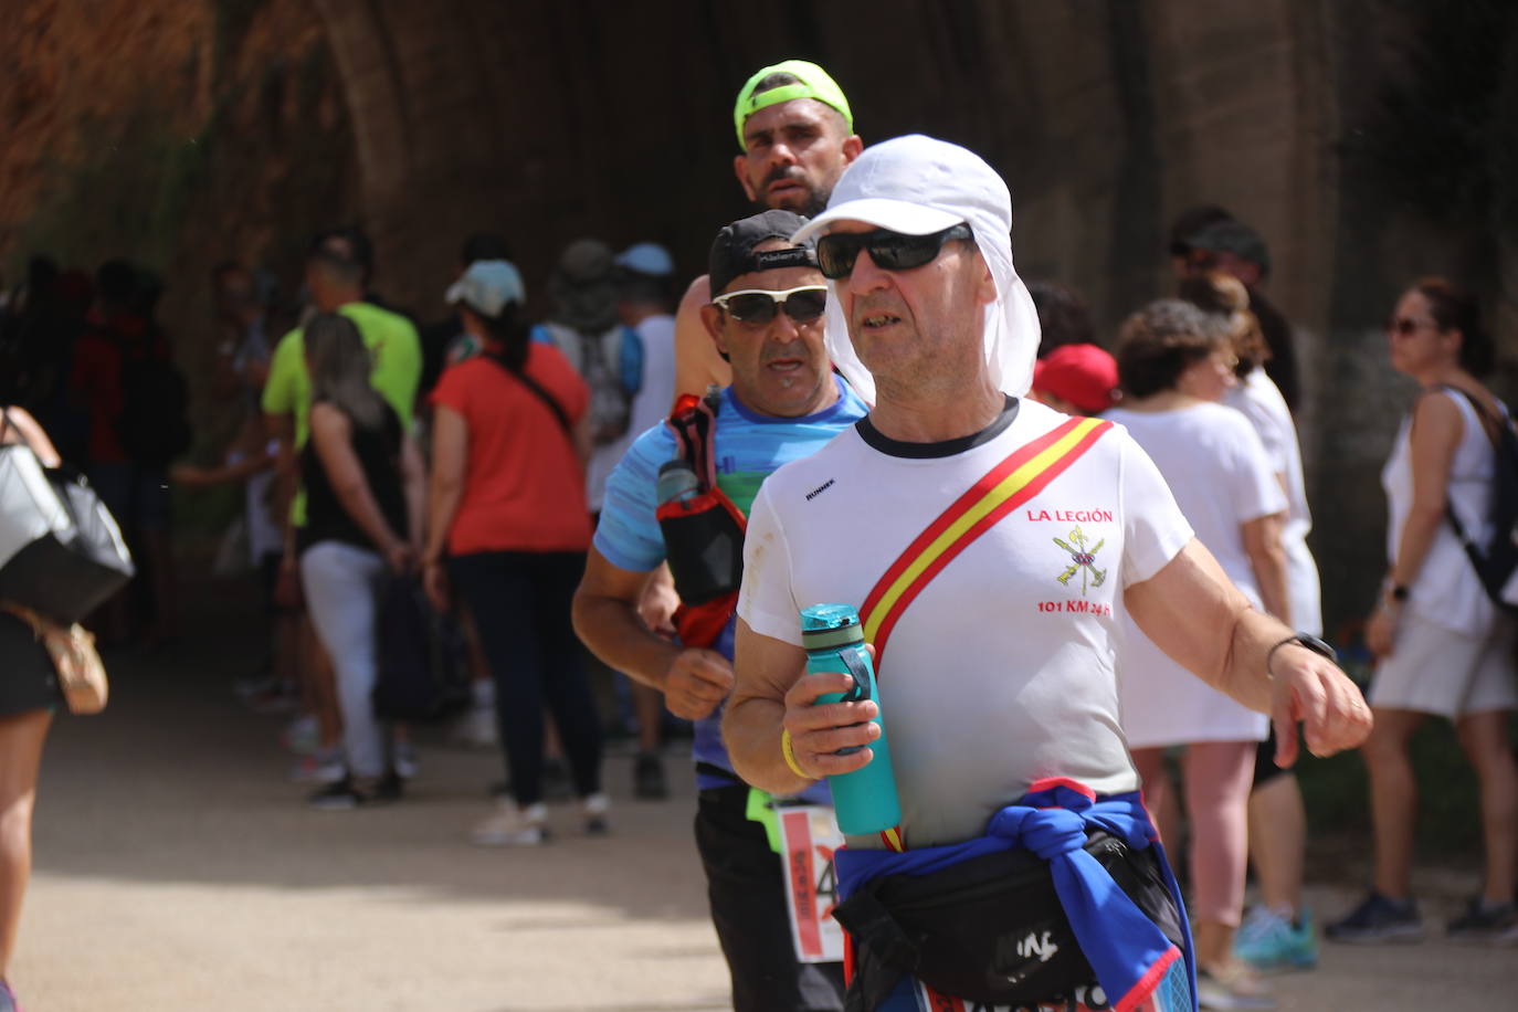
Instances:
[[[411,405],[422,379],[422,341],[416,328],[404,316],[367,302],[349,302],[337,311],[354,322],[373,355],[369,382],[401,416],[402,428],[410,429]],[[285,334],[275,346],[269,360],[269,379],[264,382],[263,408],[266,414],[293,414],[294,448],[299,451],[305,446],[311,434],[311,376],[305,370],[305,334],[301,328]],[[304,489],[290,505],[290,519],[296,526],[305,526]]]

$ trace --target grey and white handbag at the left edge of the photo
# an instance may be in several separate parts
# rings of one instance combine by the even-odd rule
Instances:
[[[11,426],[0,420],[0,438]],[[0,598],[71,625],[132,578],[132,554],[80,475],[0,445]]]

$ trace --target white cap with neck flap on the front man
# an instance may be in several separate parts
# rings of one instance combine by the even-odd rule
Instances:
[[[893,232],[929,235],[965,222],[996,281],[985,306],[985,363],[1006,393],[1023,396],[1038,354],[1038,313],[1013,267],[1013,194],[975,152],[921,134],[867,147],[844,170],[827,209],[792,241],[823,235],[832,222],[865,222]],[[874,379],[855,354],[838,282],[829,281],[827,350],[861,398],[874,404]]]

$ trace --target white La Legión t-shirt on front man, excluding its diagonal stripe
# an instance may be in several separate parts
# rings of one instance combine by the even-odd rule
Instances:
[[[800,608],[859,607],[987,472],[1070,422],[1011,404],[950,443],[896,443],[865,420],[770,475],[748,517],[739,616],[800,645]],[[908,847],[982,834],[1035,780],[1067,777],[1098,794],[1138,786],[1113,675],[1122,590],[1190,537],[1155,466],[1122,428],[1104,426],[926,584],[879,662]]]

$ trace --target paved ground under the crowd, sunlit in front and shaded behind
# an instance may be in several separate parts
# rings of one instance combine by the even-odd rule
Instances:
[[[196,605],[176,648],[109,658],[108,713],[55,728],[12,968],[29,1012],[727,1007],[683,763],[680,800],[648,804],[627,800],[630,760],[610,759],[615,834],[581,838],[557,807],[536,851],[465,842],[496,760],[442,743],[424,742],[404,804],[311,812],[284,780],[279,719],[229,692],[255,645],[216,616],[244,602],[209,587]],[[1474,878],[1421,885],[1444,915]],[[1348,897],[1315,889],[1322,910]],[[1442,941],[1327,948],[1277,988],[1289,1012],[1518,1007],[1515,971],[1515,950]]]

